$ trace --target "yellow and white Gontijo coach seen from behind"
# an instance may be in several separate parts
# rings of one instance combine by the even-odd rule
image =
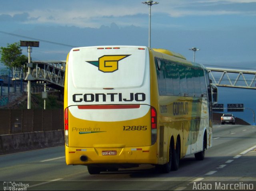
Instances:
[[[204,66],[172,51],[73,48],[64,88],[66,163],[86,165],[90,174],[140,164],[168,173],[185,156],[202,160],[212,146],[216,94]]]

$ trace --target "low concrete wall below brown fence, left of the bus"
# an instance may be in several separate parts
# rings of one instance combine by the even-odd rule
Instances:
[[[64,130],[0,135],[0,155],[64,145]]]

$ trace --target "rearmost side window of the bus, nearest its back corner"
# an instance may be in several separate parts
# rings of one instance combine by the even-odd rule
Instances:
[[[164,60],[155,57],[159,95],[166,95]]]

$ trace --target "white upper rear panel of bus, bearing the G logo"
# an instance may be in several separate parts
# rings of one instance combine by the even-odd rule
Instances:
[[[70,53],[68,72],[77,89],[141,87],[144,82],[146,51],[126,49]]]

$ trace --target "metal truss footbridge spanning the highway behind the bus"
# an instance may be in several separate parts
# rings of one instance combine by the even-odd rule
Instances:
[[[63,91],[66,61],[35,61],[31,70],[34,82]],[[256,71],[206,67],[212,85],[219,87],[256,89]],[[25,79],[22,68],[13,69],[13,80]]]

